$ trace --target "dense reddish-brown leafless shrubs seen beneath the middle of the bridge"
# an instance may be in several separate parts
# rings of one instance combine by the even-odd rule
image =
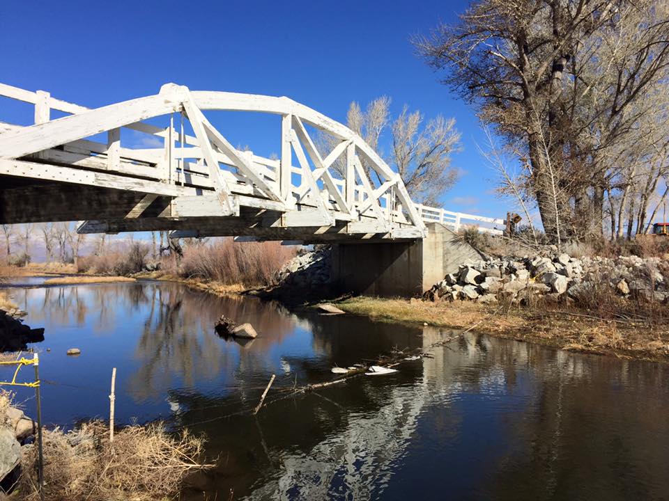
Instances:
[[[295,248],[279,242],[234,242],[216,239],[183,250],[178,273],[224,284],[271,285],[275,272],[295,256]]]

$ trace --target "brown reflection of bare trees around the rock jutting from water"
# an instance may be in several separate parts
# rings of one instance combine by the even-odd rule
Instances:
[[[141,367],[130,379],[140,400],[164,395],[172,387],[172,376],[190,388],[222,371],[270,368],[268,350],[293,331],[290,317],[261,301],[217,297],[178,284],[146,287],[151,289],[151,306],[135,349]],[[220,339],[213,326],[222,314],[250,321],[259,337],[246,348]]]

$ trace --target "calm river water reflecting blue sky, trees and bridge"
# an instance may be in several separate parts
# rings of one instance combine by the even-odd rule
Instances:
[[[27,284],[26,284],[27,285]],[[29,285],[34,285],[33,283]],[[166,420],[208,438],[218,466],[184,500],[669,499],[667,367],[467,335],[392,376],[275,401],[279,388],[332,379],[330,368],[427,347],[450,331],[287,312],[169,283],[13,289],[45,327],[46,422]],[[250,321],[247,344],[213,330]],[[77,347],[82,355],[66,356]],[[47,351],[47,348],[50,351]],[[34,400],[21,391],[26,410]],[[203,495],[202,491],[205,491]]]

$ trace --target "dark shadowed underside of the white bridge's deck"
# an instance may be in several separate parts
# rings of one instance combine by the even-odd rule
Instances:
[[[304,243],[387,241],[391,237],[383,231],[359,232],[364,226],[355,227],[351,221],[335,221],[334,225],[321,227],[294,223],[288,226],[285,212],[258,207],[241,206],[238,216],[178,217],[171,216],[174,206],[170,196],[151,196],[150,202],[144,202],[147,193],[15,176],[0,176],[0,184],[3,186],[0,223],[7,224],[73,221],[83,217],[89,221],[79,227],[82,233],[165,230],[174,238],[243,235],[256,240]],[[407,233],[392,240],[413,241],[416,236]]]

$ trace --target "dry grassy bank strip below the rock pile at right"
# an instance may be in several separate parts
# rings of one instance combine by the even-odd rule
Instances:
[[[601,319],[576,308],[505,307],[470,302],[358,296],[333,304],[378,321],[470,331],[568,351],[669,362],[669,327],[644,321]]]

